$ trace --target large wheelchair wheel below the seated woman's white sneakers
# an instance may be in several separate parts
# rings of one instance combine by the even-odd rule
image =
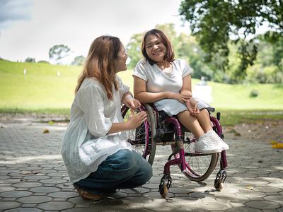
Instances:
[[[174,157],[179,158],[180,155],[177,146],[173,144],[171,148],[173,153],[175,153]],[[197,182],[207,179],[216,167],[218,153],[195,153],[195,137],[190,132],[185,132],[184,135],[184,151],[186,169],[183,171],[183,174],[187,178]]]

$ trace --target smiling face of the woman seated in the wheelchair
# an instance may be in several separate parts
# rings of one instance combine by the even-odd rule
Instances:
[[[161,38],[156,35],[148,35],[145,40],[146,54],[155,62],[164,61],[167,48]]]

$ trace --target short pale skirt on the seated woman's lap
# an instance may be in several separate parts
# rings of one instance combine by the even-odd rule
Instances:
[[[199,107],[200,110],[207,108],[210,111],[213,111],[214,108],[211,107],[206,102],[200,100],[199,98],[194,98],[197,100],[197,107]],[[173,99],[163,99],[159,100],[157,102],[154,102],[154,105],[158,111],[163,110],[166,112],[169,116],[173,116],[176,114],[179,114],[180,112],[183,112],[184,110],[187,110],[187,106],[185,103],[179,102],[178,100]]]

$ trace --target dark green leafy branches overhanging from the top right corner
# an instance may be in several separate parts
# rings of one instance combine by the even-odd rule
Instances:
[[[269,42],[277,42],[283,35],[281,0],[185,0],[179,11],[206,52],[206,61],[219,56],[225,58],[219,64],[225,71],[229,64],[229,41],[238,44],[241,59],[238,78],[246,75],[247,67],[256,59],[258,26],[269,24],[265,33],[265,40]]]

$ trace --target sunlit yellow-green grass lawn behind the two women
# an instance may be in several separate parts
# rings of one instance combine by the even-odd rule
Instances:
[[[23,75],[24,69],[27,70],[26,75]],[[69,114],[81,69],[81,66],[0,61],[0,112]],[[60,76],[57,76],[58,71]],[[132,70],[119,73],[119,76],[132,89]],[[198,80],[193,79],[192,85],[197,82]],[[271,112],[269,117],[283,118],[282,85],[228,85],[214,82],[208,84],[212,87],[211,104],[224,114],[230,114],[229,117],[233,117],[233,114],[248,117],[250,112]],[[256,98],[249,96],[250,90],[253,89],[258,90],[259,95]],[[272,112],[276,115],[272,115]],[[257,114],[253,114],[253,117],[256,116]],[[235,120],[236,117],[231,118],[231,122]]]

